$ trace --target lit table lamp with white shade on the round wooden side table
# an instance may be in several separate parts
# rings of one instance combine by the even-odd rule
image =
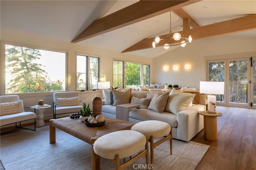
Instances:
[[[224,82],[200,82],[200,93],[224,94]],[[207,96],[208,113],[216,113],[216,96]]]

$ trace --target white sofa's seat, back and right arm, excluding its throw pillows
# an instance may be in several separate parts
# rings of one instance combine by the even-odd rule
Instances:
[[[148,96],[153,97],[154,94],[159,92],[150,91],[131,91],[131,98],[147,98]],[[143,95],[142,95],[143,94]],[[188,93],[186,93],[188,94]],[[168,98],[169,100],[169,98]],[[152,102],[152,101],[151,101]],[[105,99],[102,100],[102,115],[116,118],[116,107],[111,104],[106,104]],[[175,101],[174,101],[175,103]],[[166,105],[170,105],[168,103]],[[166,107],[167,108],[167,107]],[[186,109],[179,111],[174,114],[166,109],[162,113],[158,113],[151,109],[135,108],[130,109],[129,121],[140,122],[146,120],[158,120],[169,123],[172,126],[172,135],[174,139],[182,141],[190,141],[198,132],[204,128],[203,116],[198,111],[205,111],[206,106],[200,104],[190,104]]]

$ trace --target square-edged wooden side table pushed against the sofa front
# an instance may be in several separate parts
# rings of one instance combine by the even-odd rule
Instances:
[[[116,119],[129,121],[129,109],[140,107],[139,104],[120,104],[116,105]]]

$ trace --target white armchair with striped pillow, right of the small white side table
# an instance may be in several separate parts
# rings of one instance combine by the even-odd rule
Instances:
[[[79,113],[84,107],[80,105],[79,92],[55,92],[53,94],[53,118],[65,113]]]

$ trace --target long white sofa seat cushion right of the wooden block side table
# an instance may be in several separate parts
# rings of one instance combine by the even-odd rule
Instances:
[[[172,114],[168,111],[157,113],[149,109],[134,109],[129,112],[129,117],[140,120],[140,121],[147,121],[147,120],[163,121],[168,123],[172,127],[177,127],[177,115]]]

